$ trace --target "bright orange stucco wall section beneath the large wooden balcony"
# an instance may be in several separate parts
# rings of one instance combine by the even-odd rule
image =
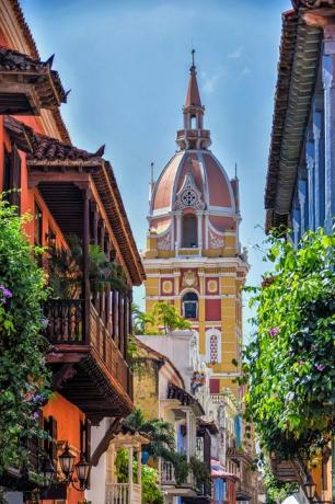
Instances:
[[[85,420],[85,415],[67,401],[59,393],[54,397],[43,409],[45,419],[53,416],[57,421],[57,439],[69,442],[71,451],[79,458],[80,455],[80,422]],[[78,461],[78,460],[77,460]],[[78,492],[71,485],[68,488],[67,504],[77,504],[82,501],[83,492]],[[55,501],[43,501],[44,504],[55,504]]]

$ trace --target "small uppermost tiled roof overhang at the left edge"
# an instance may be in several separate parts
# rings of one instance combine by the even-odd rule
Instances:
[[[1,90],[3,88],[5,92],[13,94],[18,88],[19,91],[30,88],[37,108],[54,108],[66,103],[67,93],[58,72],[51,70],[51,64],[53,57],[48,61],[41,61],[18,50],[0,47]],[[38,114],[38,110],[35,113]]]

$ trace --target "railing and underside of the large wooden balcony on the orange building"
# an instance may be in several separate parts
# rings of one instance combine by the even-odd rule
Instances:
[[[51,299],[45,303],[46,337],[53,345],[54,388],[84,411],[93,424],[125,416],[132,408],[132,376],[118,340],[91,301]]]

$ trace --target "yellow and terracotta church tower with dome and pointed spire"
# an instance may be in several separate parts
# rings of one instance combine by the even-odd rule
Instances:
[[[198,333],[213,371],[211,392],[229,387],[238,396],[232,359],[240,362],[247,273],[239,243],[239,181],[229,180],[209,150],[204,114],[193,51],[178,149],[150,183],[146,310],[159,300],[173,303]]]

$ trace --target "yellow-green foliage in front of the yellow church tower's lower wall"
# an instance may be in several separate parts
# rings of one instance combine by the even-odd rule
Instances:
[[[175,307],[166,301],[157,302],[151,313],[143,313],[135,306],[132,313],[135,334],[168,334],[176,329],[192,329],[192,323],[180,316]]]

